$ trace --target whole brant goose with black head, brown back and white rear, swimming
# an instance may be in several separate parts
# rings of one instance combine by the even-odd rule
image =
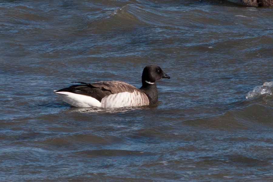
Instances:
[[[146,66],[142,73],[142,87],[121,81],[80,83],[68,88],[54,90],[66,103],[75,107],[114,108],[124,106],[145,106],[157,103],[158,93],[155,82],[170,78],[159,66]]]

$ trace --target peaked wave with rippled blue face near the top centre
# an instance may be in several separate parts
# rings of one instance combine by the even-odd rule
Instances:
[[[126,31],[137,26],[175,26],[168,21],[173,12],[143,4],[126,4],[111,12],[101,12],[100,17],[86,21],[92,32]]]

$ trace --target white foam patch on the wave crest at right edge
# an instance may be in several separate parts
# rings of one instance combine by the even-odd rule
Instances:
[[[251,99],[253,97],[261,96],[264,94],[272,95],[271,88],[273,87],[272,82],[265,82],[262,86],[255,86],[254,89],[247,94],[246,99]]]

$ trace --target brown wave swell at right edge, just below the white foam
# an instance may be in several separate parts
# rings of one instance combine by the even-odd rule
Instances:
[[[217,130],[268,130],[272,127],[272,107],[251,104],[217,116],[182,121],[185,125]]]

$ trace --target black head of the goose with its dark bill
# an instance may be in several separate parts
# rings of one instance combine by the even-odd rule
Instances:
[[[142,83],[143,82],[150,82],[155,83],[157,80],[161,78],[170,78],[167,74],[165,74],[159,66],[146,66],[143,69],[142,73]]]

